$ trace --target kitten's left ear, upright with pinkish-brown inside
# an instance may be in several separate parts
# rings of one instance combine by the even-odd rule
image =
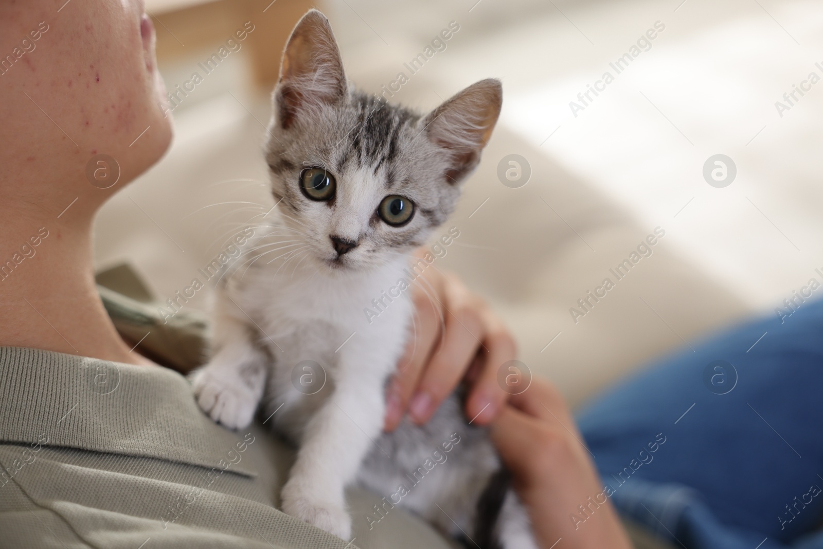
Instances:
[[[289,128],[301,111],[333,104],[346,95],[346,76],[328,19],[309,10],[291,31],[275,90],[275,112]]]

